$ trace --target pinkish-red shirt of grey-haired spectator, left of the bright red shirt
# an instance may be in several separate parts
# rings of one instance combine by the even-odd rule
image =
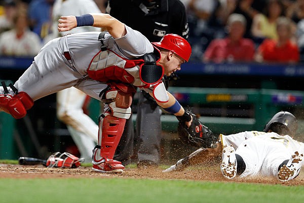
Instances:
[[[240,39],[232,42],[231,39],[213,40],[205,51],[205,61],[233,62],[252,61],[254,56],[254,43],[250,39]]]

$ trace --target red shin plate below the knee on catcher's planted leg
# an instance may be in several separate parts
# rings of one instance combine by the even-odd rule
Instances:
[[[108,113],[101,115],[101,117],[98,132],[100,157],[95,152],[93,154],[93,161],[95,162],[102,158],[113,159],[126,124],[126,119],[118,118]]]

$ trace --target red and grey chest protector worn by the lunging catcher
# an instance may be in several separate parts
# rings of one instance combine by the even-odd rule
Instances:
[[[153,55],[153,54],[151,54]],[[149,57],[146,57],[149,59]],[[157,83],[159,83],[164,75],[164,70],[162,66],[157,66],[155,64],[145,63],[145,60],[140,59],[125,59],[115,52],[107,49],[100,50],[92,59],[87,71],[90,78],[100,81],[121,81],[124,83],[129,83],[137,87],[148,88]],[[154,72],[157,77],[149,79],[146,74],[153,76],[147,69],[142,67],[156,67]],[[151,70],[151,69],[149,69]],[[140,72],[144,75],[141,77]]]

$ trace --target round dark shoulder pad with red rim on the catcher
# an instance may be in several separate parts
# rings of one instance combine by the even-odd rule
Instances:
[[[143,56],[144,64],[139,69],[139,77],[145,84],[156,84],[164,76],[164,67],[156,64],[155,56],[151,53]]]

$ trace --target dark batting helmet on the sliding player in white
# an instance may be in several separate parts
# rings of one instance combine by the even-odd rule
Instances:
[[[289,131],[289,136],[294,136],[297,129],[297,120],[294,115],[287,111],[276,113],[265,125],[263,131],[268,132],[271,129],[272,125],[275,123],[281,123],[282,125],[285,125]]]

